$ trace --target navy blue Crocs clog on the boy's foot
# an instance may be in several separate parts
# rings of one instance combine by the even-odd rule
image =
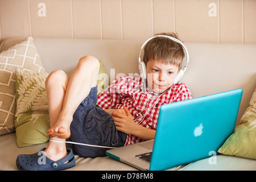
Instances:
[[[44,151],[45,149],[42,148],[40,151]],[[71,148],[67,148],[68,155],[57,162],[47,158],[40,151],[31,155],[18,155],[16,159],[17,167],[22,171],[57,171],[75,166],[76,160]],[[64,164],[67,161],[68,163]]]

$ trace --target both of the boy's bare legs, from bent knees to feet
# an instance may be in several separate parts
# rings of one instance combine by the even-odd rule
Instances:
[[[99,68],[96,58],[85,56],[79,60],[71,78],[63,71],[54,71],[48,76],[46,89],[51,121],[48,135],[51,140],[65,141],[69,137],[73,113],[88,96],[90,88],[96,86]],[[67,155],[65,143],[49,142],[44,152],[55,161]]]

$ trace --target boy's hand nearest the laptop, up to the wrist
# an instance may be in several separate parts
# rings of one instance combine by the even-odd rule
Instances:
[[[112,113],[115,127],[117,130],[122,131],[123,133],[133,134],[133,131],[138,125],[134,122],[133,116],[129,110],[126,107],[123,107],[123,110],[125,110],[125,113],[120,111],[114,111]]]

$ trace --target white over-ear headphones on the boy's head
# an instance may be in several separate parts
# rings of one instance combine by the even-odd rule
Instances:
[[[142,49],[144,48],[144,46],[146,46],[146,44],[151,40],[151,39],[154,39],[156,37],[164,37],[164,38],[168,38],[168,39],[171,39],[171,40],[174,40],[175,42],[181,44],[181,46],[183,47],[184,49],[184,52],[185,52],[185,56],[186,56],[186,65],[184,66],[183,69],[180,69],[180,71],[177,73],[177,76],[175,77],[175,80],[174,80],[174,84],[176,84],[178,81],[180,81],[181,77],[183,77],[186,69],[187,69],[187,66],[188,66],[188,60],[189,60],[189,56],[188,56],[188,50],[187,48],[184,46],[184,44],[178,40],[178,39],[175,39],[173,38],[172,36],[168,36],[168,35],[156,35],[156,36],[153,36],[152,38],[150,39],[147,39],[146,42],[144,42],[142,44],[142,47],[141,47],[141,51]],[[141,61],[141,51],[139,52],[139,74],[146,80],[147,78],[147,71],[146,71],[146,64]]]

